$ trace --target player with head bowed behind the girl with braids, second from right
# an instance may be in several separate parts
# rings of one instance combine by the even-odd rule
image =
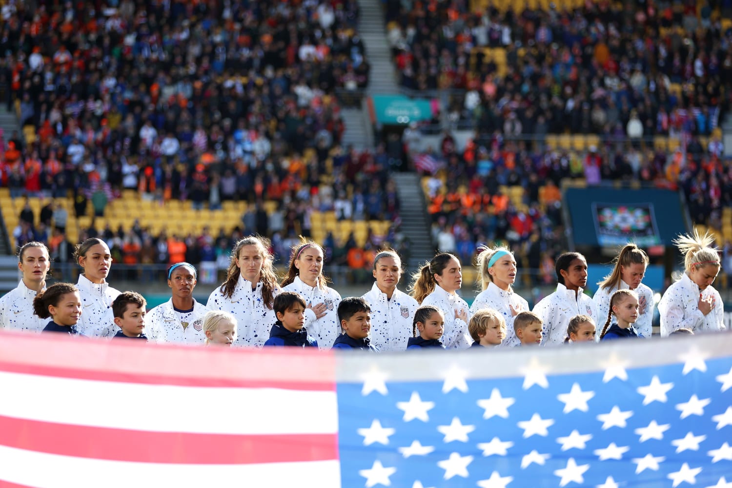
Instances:
[[[646,274],[649,259],[646,252],[635,244],[626,244],[615,258],[613,271],[598,283],[593,301],[599,320],[608,315],[610,296],[617,290],[634,290],[638,293],[638,320],[635,330],[638,335],[649,339],[653,326],[653,290],[641,282]]]

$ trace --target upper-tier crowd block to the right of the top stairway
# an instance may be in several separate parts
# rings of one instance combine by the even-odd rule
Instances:
[[[710,135],[731,100],[719,2],[474,3],[389,0],[386,20],[402,86],[453,90],[480,132]]]

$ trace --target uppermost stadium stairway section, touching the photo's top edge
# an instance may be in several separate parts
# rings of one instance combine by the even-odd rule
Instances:
[[[366,46],[366,56],[371,64],[367,92],[369,95],[393,95],[399,93],[397,73],[392,53],[386,43],[384,14],[381,1],[358,0],[360,10],[359,34]]]

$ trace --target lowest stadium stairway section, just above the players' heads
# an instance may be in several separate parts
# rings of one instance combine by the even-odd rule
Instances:
[[[417,173],[394,173],[397,193],[401,202],[399,212],[402,219],[401,230],[409,238],[408,271],[414,272],[419,266],[432,259],[435,247],[430,238],[430,219],[427,216],[425,195],[422,194]]]

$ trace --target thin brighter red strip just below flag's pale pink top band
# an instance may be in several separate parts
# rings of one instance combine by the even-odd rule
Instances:
[[[105,372],[70,367],[45,367],[32,364],[11,364],[0,361],[0,371],[25,375],[50,376],[53,378],[72,378],[75,380],[109,381],[111,383],[138,383],[143,385],[198,386],[210,388],[281,388],[297,391],[335,391],[335,383],[315,381],[280,380],[237,380],[236,378],[184,378],[181,376],[146,375],[144,371]]]

